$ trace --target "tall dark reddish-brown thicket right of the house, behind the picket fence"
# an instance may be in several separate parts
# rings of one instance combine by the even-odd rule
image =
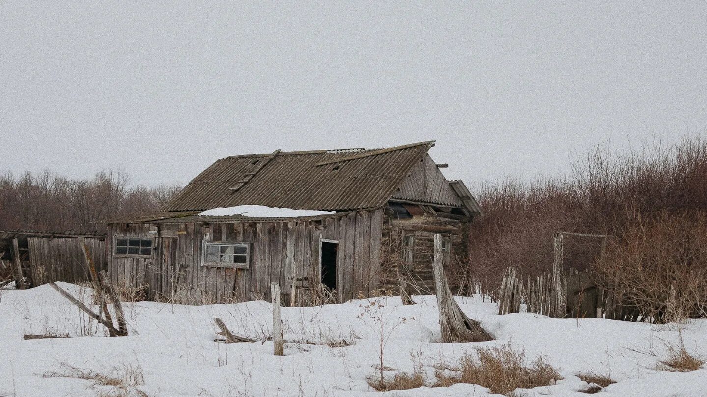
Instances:
[[[574,165],[573,177],[525,183],[506,179],[475,187],[484,217],[469,229],[474,277],[485,293],[501,283],[503,269],[516,266],[535,277],[552,263],[556,231],[614,235],[635,224],[637,215],[683,214],[707,208],[707,139],[672,146],[657,142],[629,153],[597,146]],[[597,261],[597,239],[565,240],[563,262],[583,270]],[[680,249],[677,239],[671,244]],[[605,255],[610,257],[610,255]],[[464,274],[464,269],[452,269]]]

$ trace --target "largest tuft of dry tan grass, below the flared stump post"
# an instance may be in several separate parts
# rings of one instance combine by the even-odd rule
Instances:
[[[555,384],[555,381],[562,379],[557,369],[542,357],[527,365],[525,351],[513,350],[510,345],[480,348],[477,354],[478,359],[473,355],[464,355],[457,367],[450,368],[454,374],[438,371],[435,386],[478,384],[491,389],[491,393],[508,396],[519,387],[532,389]]]

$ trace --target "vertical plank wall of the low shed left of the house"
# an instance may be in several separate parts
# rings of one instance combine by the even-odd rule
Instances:
[[[86,238],[84,241],[93,257],[96,271],[105,270],[105,242],[95,238]],[[49,281],[80,283],[91,280],[79,239],[28,237],[27,245],[33,285]]]

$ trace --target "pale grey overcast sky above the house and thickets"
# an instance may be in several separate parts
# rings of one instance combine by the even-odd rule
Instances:
[[[0,2],[0,172],[436,140],[469,184],[707,135],[707,2]],[[615,3],[615,4],[612,4]]]

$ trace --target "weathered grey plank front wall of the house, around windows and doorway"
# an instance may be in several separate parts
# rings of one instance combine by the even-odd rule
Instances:
[[[279,283],[284,295],[291,293],[293,277],[306,278],[298,283],[305,287],[318,282],[320,242],[329,239],[339,242],[338,297],[349,300],[378,288],[382,223],[379,209],[313,221],[113,225],[111,236],[153,236],[155,249],[149,259],[111,255],[111,276],[148,284],[151,297],[192,304],[268,299],[271,282]],[[111,253],[113,241],[110,237]],[[201,266],[204,241],[249,243],[249,268]]]

